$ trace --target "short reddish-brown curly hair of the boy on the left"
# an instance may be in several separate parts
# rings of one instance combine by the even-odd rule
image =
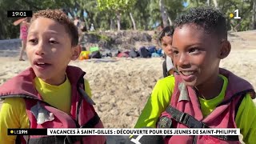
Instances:
[[[31,22],[40,17],[53,19],[65,26],[66,32],[70,35],[71,46],[78,45],[78,29],[62,10],[39,10],[33,14]]]

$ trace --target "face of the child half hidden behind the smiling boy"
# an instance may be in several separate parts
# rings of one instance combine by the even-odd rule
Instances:
[[[168,55],[170,58],[172,58],[172,50],[171,50],[171,43],[173,42],[173,38],[170,36],[164,36],[161,40],[161,46],[162,50],[165,52],[166,55]]]

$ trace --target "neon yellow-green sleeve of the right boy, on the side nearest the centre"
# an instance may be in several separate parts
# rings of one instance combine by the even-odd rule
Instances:
[[[170,104],[170,97],[174,91],[174,76],[170,75],[166,78],[158,80],[150,98],[146,102],[146,106],[139,116],[135,128],[156,127],[158,118],[161,113],[166,110]]]

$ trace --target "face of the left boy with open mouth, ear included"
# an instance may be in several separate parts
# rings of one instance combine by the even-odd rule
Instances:
[[[38,78],[60,85],[66,78],[66,66],[78,58],[78,46],[72,47],[65,26],[50,18],[37,18],[31,23],[26,54]]]

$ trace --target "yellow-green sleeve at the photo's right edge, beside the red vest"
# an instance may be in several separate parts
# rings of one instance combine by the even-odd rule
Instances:
[[[250,98],[250,94],[246,94],[239,106],[235,122],[240,128],[243,136],[243,142],[256,142],[256,106]]]

